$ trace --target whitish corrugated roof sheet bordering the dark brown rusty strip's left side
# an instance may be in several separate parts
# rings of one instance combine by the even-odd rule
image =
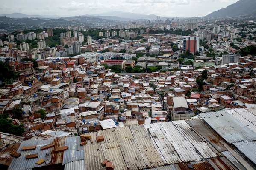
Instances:
[[[185,120],[173,121],[175,127],[182,136],[191,142],[195,149],[200,153],[202,159],[216,157],[216,153],[201,139],[194,130],[185,122]]]

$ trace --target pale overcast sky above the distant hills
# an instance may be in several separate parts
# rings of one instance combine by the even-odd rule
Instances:
[[[125,11],[163,17],[199,17],[238,0],[0,0],[0,14],[74,16]]]

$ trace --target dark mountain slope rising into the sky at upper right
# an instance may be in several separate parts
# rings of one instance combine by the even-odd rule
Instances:
[[[226,8],[212,12],[206,17],[238,17],[256,15],[256,0],[239,0]]]

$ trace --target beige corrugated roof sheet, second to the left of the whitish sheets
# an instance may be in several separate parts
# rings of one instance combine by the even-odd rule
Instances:
[[[146,164],[129,127],[116,128],[114,131],[128,169],[140,170],[146,168]]]

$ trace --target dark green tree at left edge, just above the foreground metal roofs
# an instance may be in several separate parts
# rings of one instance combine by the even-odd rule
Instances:
[[[23,125],[14,125],[12,119],[9,118],[8,114],[0,114],[0,131],[4,133],[10,133],[17,136],[22,136],[24,133]]]

